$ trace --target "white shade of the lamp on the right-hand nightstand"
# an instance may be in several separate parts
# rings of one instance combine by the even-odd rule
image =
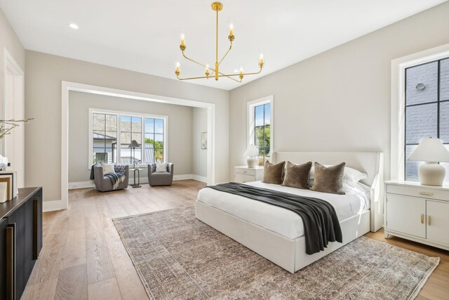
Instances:
[[[408,160],[417,162],[449,162],[449,151],[438,138],[423,138]]]

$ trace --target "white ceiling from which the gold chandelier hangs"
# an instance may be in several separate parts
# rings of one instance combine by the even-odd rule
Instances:
[[[235,41],[221,71],[257,71],[262,52],[264,70],[245,77],[244,84],[445,1],[222,0],[219,56],[229,46],[229,23]],[[182,58],[181,33],[187,56],[214,65],[211,2],[0,0],[0,7],[29,50],[175,79],[177,62],[182,76],[204,73],[203,67]],[[70,22],[79,29],[69,28]],[[227,90],[241,85],[227,78],[189,82]]]

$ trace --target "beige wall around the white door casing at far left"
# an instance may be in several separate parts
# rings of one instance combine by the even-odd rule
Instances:
[[[25,72],[25,49],[22,46],[19,38],[15,34],[13,27],[6,19],[4,12],[0,8],[0,119],[4,118],[4,97],[5,97],[5,88],[4,88],[4,68],[5,68],[5,53],[4,49],[13,56],[14,60],[20,68]],[[27,112],[25,112],[25,117],[27,117]],[[13,134],[14,132],[12,132]],[[0,154],[3,154],[3,145],[0,141]]]

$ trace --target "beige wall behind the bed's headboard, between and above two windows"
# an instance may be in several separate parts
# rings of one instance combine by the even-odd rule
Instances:
[[[274,95],[274,150],[382,151],[389,178],[391,60],[447,43],[449,3],[232,90],[230,176],[245,163],[246,103]]]

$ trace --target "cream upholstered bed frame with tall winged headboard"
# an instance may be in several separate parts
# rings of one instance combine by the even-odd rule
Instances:
[[[287,160],[295,163],[311,161],[320,164],[346,162],[347,167],[368,174],[368,178],[362,183],[371,187],[370,210],[340,221],[342,243],[330,242],[325,251],[309,255],[305,252],[304,236],[294,240],[284,237],[198,200],[195,203],[196,219],[219,230],[290,273],[295,273],[334,252],[368,231],[375,232],[382,228],[384,223],[382,152],[273,152],[272,154],[273,163]]]

